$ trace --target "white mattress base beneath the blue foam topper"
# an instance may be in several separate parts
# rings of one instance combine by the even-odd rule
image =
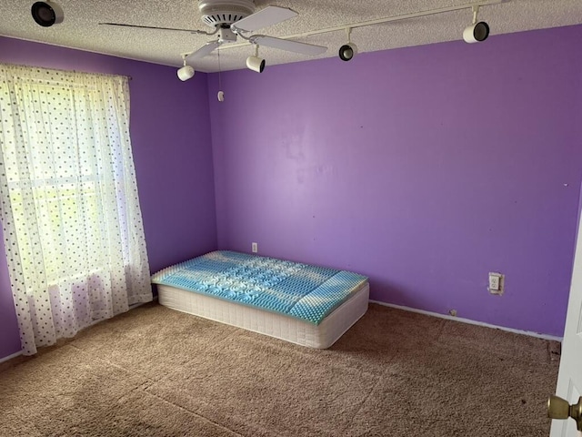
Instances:
[[[168,285],[158,285],[157,292],[159,303],[172,310],[220,321],[301,346],[326,349],[366,313],[370,288],[366,281],[319,325]]]

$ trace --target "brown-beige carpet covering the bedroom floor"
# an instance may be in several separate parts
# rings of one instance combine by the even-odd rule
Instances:
[[[1,436],[544,436],[559,345],[370,305],[329,350],[132,310],[0,367]]]

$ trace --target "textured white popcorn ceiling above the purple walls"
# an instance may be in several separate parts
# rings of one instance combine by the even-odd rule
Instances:
[[[289,7],[299,13],[284,23],[261,29],[269,36],[285,37],[336,25],[404,15],[453,5],[469,5],[476,0],[256,0],[256,10],[266,5]],[[183,29],[211,30],[202,23],[197,0],[58,0],[65,12],[65,21],[52,27],[36,25],[30,15],[34,0],[0,0],[0,35],[38,41],[55,46],[73,47],[96,53],[121,56],[166,66],[181,66],[180,55],[195,51],[211,36],[183,32],[148,30],[98,25],[115,22],[131,25],[153,25]],[[419,46],[462,39],[463,29],[471,23],[471,9],[430,15],[405,21],[370,25],[353,30],[352,40],[359,52],[372,52],[403,46]],[[582,23],[582,0],[510,0],[501,5],[484,6],[479,20],[487,21],[491,36],[525,30],[577,25]],[[324,55],[337,56],[337,49],[346,43],[345,31],[298,40],[327,46]],[[487,41],[480,44],[487,44]],[[223,46],[220,51],[222,70],[245,67],[250,46]],[[313,59],[273,48],[261,47],[260,56],[267,66]],[[192,64],[197,70],[218,71],[216,51]]]

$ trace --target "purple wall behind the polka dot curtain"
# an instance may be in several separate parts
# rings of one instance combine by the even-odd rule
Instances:
[[[0,37],[0,62],[132,76],[131,135],[152,271],[216,249],[205,74]],[[0,358],[20,350],[0,241]]]

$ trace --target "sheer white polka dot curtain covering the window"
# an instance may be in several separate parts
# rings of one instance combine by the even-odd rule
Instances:
[[[23,352],[152,300],[127,79],[0,64],[0,141]]]

